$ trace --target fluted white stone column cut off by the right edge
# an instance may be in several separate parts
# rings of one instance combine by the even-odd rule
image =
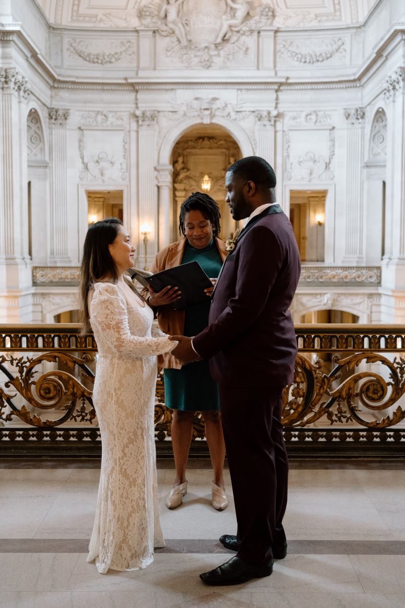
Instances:
[[[405,323],[405,67],[386,80],[386,255],[381,264],[382,320]]]

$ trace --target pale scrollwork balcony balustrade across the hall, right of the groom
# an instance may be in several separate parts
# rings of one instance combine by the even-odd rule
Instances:
[[[379,266],[307,266],[303,265],[300,287],[376,287],[381,285]]]

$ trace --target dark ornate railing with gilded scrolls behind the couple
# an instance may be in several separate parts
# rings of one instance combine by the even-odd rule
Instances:
[[[387,454],[405,445],[405,334],[395,325],[298,325],[293,384],[283,395],[288,449]],[[78,325],[0,325],[0,453],[95,454],[97,345]],[[205,451],[201,414],[194,452]],[[169,453],[171,410],[158,376],[155,436]]]

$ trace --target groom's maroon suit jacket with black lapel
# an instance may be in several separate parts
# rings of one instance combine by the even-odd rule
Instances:
[[[274,205],[247,224],[226,258],[209,325],[192,344],[216,382],[287,385],[297,342],[289,307],[301,263],[293,228]]]

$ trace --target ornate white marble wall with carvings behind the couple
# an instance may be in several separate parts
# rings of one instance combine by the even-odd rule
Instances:
[[[151,262],[174,238],[176,145],[196,130],[265,157],[286,213],[291,191],[326,192],[319,273],[366,270],[347,286],[301,286],[296,319],[335,308],[404,322],[403,2],[379,0],[366,21],[340,26],[283,24],[264,3],[231,24],[221,2],[194,4],[177,18],[167,2],[139,2],[131,22],[51,27],[34,0],[2,2],[1,322],[77,308],[76,288],[33,286],[32,266],[80,264],[88,191],[122,194],[135,243],[140,224],[152,227]],[[369,266],[381,285],[364,285]]]

